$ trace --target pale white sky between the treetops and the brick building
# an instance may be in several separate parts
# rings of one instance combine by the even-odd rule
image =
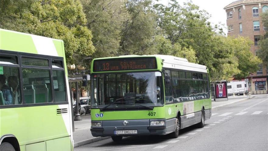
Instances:
[[[161,3],[163,5],[168,5],[170,0],[159,0],[155,3]],[[180,5],[183,5],[184,2],[190,2],[190,0],[177,0]],[[206,10],[211,18],[209,21],[214,24],[222,23],[224,24],[224,33],[227,35],[227,26],[226,26],[226,12],[223,9],[228,4],[237,1],[237,0],[192,0],[195,5],[199,6],[199,9]]]

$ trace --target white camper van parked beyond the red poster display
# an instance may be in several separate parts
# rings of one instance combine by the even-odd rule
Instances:
[[[245,81],[231,81],[227,83],[228,95],[243,95],[248,92],[248,83]]]

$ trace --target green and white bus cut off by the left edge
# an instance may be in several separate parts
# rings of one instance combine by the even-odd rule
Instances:
[[[0,150],[72,151],[62,40],[0,29]]]

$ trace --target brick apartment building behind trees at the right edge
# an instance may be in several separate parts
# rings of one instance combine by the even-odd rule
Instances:
[[[263,27],[260,17],[262,12],[268,11],[268,0],[238,0],[225,6],[224,10],[227,14],[227,35],[249,37],[254,42],[250,51],[258,56],[258,41],[268,30]],[[252,93],[267,93],[268,65],[259,64],[259,70],[251,73],[248,79]]]

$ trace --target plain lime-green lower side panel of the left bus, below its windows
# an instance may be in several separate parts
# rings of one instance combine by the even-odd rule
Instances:
[[[58,105],[1,109],[0,136],[12,134],[19,145],[69,136],[57,109]]]

